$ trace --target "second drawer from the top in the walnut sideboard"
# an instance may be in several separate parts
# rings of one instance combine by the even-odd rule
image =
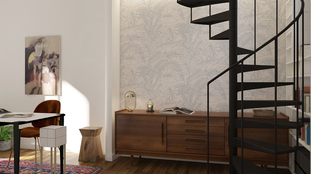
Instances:
[[[225,137],[224,127],[210,127],[210,136]],[[205,135],[207,136],[207,127],[204,126],[179,126],[167,125],[168,134],[183,134],[183,135]]]

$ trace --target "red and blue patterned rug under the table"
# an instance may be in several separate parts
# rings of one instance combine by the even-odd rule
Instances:
[[[7,167],[8,159],[0,158],[0,173],[14,173],[14,160],[10,161],[9,167]],[[57,173],[60,173],[60,164],[56,164]],[[66,174],[95,174],[102,168],[66,165]],[[54,172],[54,169],[53,169]],[[20,174],[35,173],[35,162],[33,161],[20,161]],[[37,162],[37,173],[40,173],[40,163]],[[50,173],[50,163],[43,163],[43,173]]]

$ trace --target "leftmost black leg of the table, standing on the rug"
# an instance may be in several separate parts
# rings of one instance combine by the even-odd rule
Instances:
[[[20,134],[18,131],[18,122],[13,123],[13,140],[14,140],[14,174],[19,173],[19,151],[20,151]]]

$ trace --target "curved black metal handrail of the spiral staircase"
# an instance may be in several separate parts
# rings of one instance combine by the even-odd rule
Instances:
[[[250,56],[252,56],[253,54],[255,54],[256,52],[258,52],[259,50],[261,50],[263,47],[267,46],[269,43],[271,43],[272,41],[274,41],[277,37],[281,36],[281,34],[285,33],[285,31],[290,28],[297,20],[299,20],[300,16],[302,15],[302,12],[304,10],[304,0],[300,0],[301,2],[301,7],[300,7],[300,11],[298,13],[298,15],[294,18],[294,20],[292,20],[280,33],[278,33],[277,35],[275,35],[274,37],[272,37],[270,40],[268,40],[267,42],[265,42],[264,44],[262,44],[262,46],[258,47],[256,50],[254,50],[253,52],[251,52],[250,54],[248,54],[247,56],[245,56],[243,59],[239,60],[238,62],[234,63],[233,65],[231,65],[230,67],[228,67],[227,69],[225,69],[223,72],[221,72],[220,74],[218,74],[216,77],[214,77],[213,79],[211,79],[210,81],[207,82],[207,86],[209,86],[209,84],[211,84],[211,82],[213,82],[214,80],[218,79],[220,76],[222,76],[223,74],[225,74],[226,72],[228,72],[230,69],[232,69],[233,67],[237,66],[238,64],[242,63],[244,60],[246,60],[247,58],[249,58]]]

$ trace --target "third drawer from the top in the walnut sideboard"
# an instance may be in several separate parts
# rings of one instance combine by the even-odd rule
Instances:
[[[225,137],[209,137],[210,146],[225,146]],[[180,144],[207,145],[207,136],[167,134],[166,142]]]

